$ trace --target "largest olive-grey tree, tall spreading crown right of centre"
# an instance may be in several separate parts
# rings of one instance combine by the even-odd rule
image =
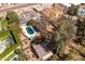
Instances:
[[[66,17],[62,17],[59,22],[60,25],[55,30],[53,40],[55,40],[56,52],[61,55],[67,42],[75,36],[76,28],[75,24]]]

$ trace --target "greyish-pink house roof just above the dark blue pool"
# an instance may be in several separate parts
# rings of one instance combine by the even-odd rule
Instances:
[[[40,21],[41,17],[40,17],[40,14],[36,13],[34,11],[29,11],[29,12],[22,14],[22,17],[20,17],[22,24],[26,23],[29,20]]]

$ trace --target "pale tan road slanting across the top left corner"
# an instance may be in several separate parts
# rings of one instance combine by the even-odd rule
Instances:
[[[6,8],[6,9],[0,10],[0,13],[6,12],[6,11],[16,10],[16,9],[20,9],[20,8],[26,8],[26,7],[34,5],[34,4],[37,4],[37,3],[26,3],[26,4],[20,4],[20,5],[12,7],[12,8]]]

